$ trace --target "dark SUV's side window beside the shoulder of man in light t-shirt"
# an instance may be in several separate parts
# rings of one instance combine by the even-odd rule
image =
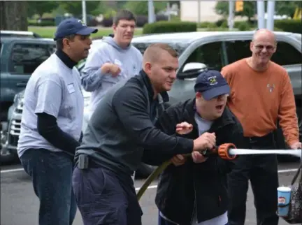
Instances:
[[[31,74],[54,51],[54,45],[17,43],[10,55],[9,72]]]

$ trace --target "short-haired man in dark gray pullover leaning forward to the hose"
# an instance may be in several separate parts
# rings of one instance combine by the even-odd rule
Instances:
[[[96,107],[77,149],[73,173],[73,191],[85,225],[141,225],[131,175],[141,164],[144,149],[174,155],[215,146],[215,137],[168,136],[154,126],[177,69],[177,52],[166,44],[152,44],[145,50],[139,75],[115,85]]]

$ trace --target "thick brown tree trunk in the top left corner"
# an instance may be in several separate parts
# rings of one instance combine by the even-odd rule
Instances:
[[[0,29],[27,31],[27,1],[0,1]]]

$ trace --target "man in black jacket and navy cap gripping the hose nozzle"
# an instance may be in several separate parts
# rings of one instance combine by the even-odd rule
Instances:
[[[229,85],[219,71],[204,71],[194,86],[196,98],[176,103],[159,117],[159,128],[169,135],[195,139],[215,136],[215,145],[233,143],[244,147],[243,128],[226,108]],[[146,150],[144,161],[157,157],[173,164],[161,174],[155,202],[160,211],[159,224],[190,225],[228,223],[227,173],[232,161],[220,157],[192,154],[171,156]],[[236,160],[236,159],[235,159]]]

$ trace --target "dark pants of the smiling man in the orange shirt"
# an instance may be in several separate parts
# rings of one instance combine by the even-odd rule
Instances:
[[[251,149],[274,149],[275,145],[251,144]],[[247,189],[249,181],[254,194],[258,225],[277,225],[278,161],[275,154],[254,154],[238,157],[229,173],[229,224],[245,224]]]

